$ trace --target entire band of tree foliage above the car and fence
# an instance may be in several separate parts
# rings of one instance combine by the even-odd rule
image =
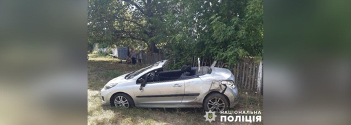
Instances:
[[[156,43],[169,69],[193,57],[234,63],[263,53],[263,0],[89,0],[88,22],[92,43]]]

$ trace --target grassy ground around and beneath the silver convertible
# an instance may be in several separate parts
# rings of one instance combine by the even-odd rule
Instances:
[[[103,106],[100,100],[100,89],[109,80],[145,67],[145,65],[120,64],[119,61],[116,58],[89,54],[88,124],[210,124],[205,121],[203,109],[123,109]],[[245,89],[239,91],[239,104],[229,110],[262,112],[262,95]],[[220,114],[216,113],[216,115]],[[216,117],[215,120],[211,124],[262,124],[262,122],[220,122],[220,117]]]

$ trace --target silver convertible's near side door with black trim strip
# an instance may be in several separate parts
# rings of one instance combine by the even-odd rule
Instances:
[[[184,81],[147,82],[143,90],[140,90],[140,84],[134,85],[133,89],[137,106],[178,107],[184,95]]]

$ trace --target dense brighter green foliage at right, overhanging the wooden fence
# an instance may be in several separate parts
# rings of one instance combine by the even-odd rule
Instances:
[[[262,56],[263,1],[184,1],[177,21],[180,32],[171,36],[166,47],[178,68],[191,57],[211,57],[237,62],[249,56]],[[184,14],[185,13],[185,14]],[[184,14],[184,15],[182,15]],[[170,27],[175,27],[170,25]]]

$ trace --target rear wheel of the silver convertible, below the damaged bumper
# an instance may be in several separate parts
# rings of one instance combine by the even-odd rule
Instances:
[[[211,93],[204,99],[204,111],[226,111],[228,110],[228,100],[221,93]]]

